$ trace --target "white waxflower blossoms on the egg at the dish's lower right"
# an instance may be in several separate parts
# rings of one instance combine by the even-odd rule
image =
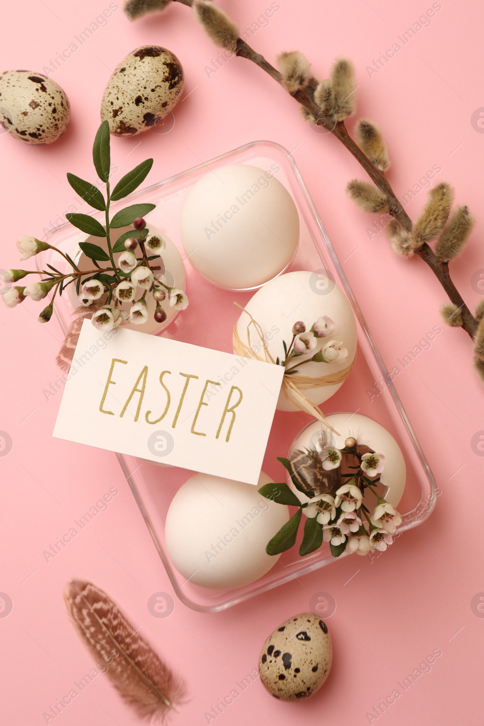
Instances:
[[[353,444],[354,439],[347,439],[346,443]],[[335,446],[325,446],[319,452],[322,466],[325,470],[340,466],[343,452]],[[385,457],[383,454],[368,453],[361,457],[360,469],[366,476],[374,477],[382,473]],[[356,475],[358,476],[358,475]],[[364,513],[361,510],[363,494],[352,478],[348,484],[343,484],[332,494],[324,494],[317,502],[311,502],[305,509],[308,518],[316,517],[323,525],[323,541],[331,542],[337,547],[348,539],[347,547],[350,552],[366,555],[370,551],[387,549],[393,543],[393,533],[401,524],[401,515],[393,505],[378,497],[378,505],[369,518],[369,531],[364,526]],[[366,518],[368,519],[368,518]]]

